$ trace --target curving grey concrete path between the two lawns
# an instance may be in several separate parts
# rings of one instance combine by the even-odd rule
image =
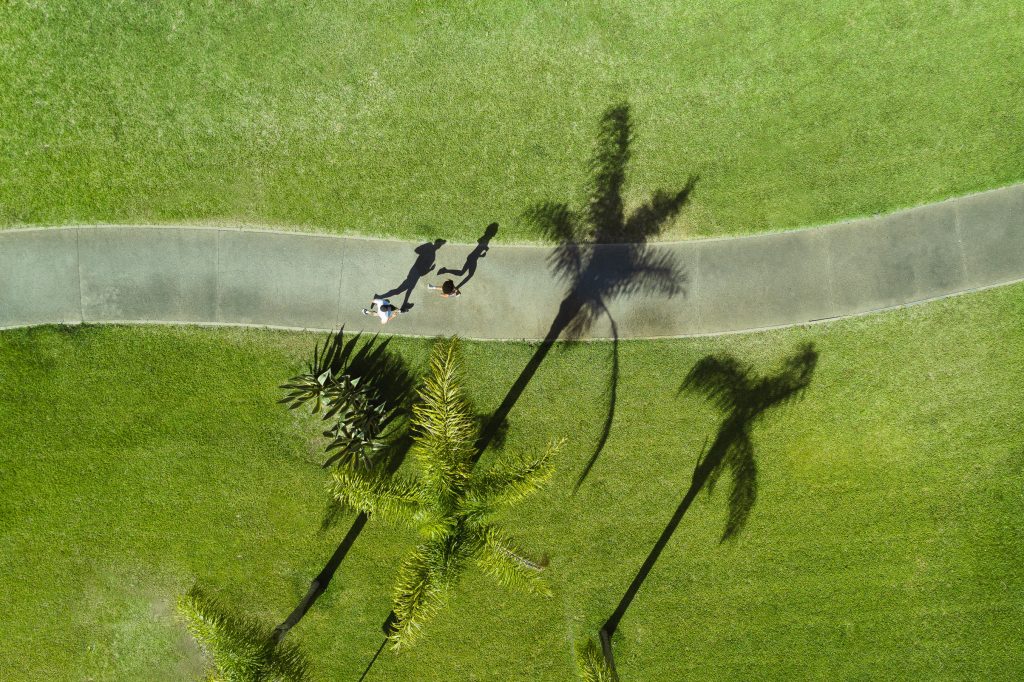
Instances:
[[[541,339],[569,291],[599,312],[583,338],[610,336],[609,319],[622,338],[799,325],[1024,279],[1024,184],[826,227],[583,249],[574,281],[553,271],[552,248],[495,246],[463,296],[427,291],[428,282],[464,279],[423,272],[462,268],[474,246],[434,251],[214,227],[0,231],[0,328],[167,322],[373,331],[379,321],[361,308],[402,284],[413,286],[413,307],[388,333]],[[406,292],[391,299],[401,303]]]

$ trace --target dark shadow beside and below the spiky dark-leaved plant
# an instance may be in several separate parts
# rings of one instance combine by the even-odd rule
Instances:
[[[401,466],[413,443],[404,409],[409,404],[416,381],[404,360],[388,349],[390,337],[379,342],[378,337],[374,336],[360,343],[360,335],[355,335],[345,341],[342,335],[343,331],[340,330],[329,335],[323,349],[319,345],[316,346],[309,371],[314,376],[318,376],[327,369],[331,369],[335,374],[345,372],[365,385],[372,386],[383,398],[388,413],[392,414],[393,417],[390,418],[391,423],[385,446],[374,460],[374,468],[382,472],[384,476],[390,476]],[[324,468],[331,466],[334,459],[329,457],[322,466]],[[322,529],[333,524],[333,517],[339,511],[335,507],[328,509]],[[365,513],[359,513],[355,517],[337,549],[309,583],[305,595],[288,614],[288,617],[274,629],[275,642],[284,639],[327,591],[348,551],[359,534],[362,532],[368,519],[369,517]]]

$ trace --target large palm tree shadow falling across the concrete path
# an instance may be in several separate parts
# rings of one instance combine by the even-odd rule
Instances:
[[[519,396],[532,380],[559,338],[579,340],[594,323],[607,314],[607,303],[636,294],[672,297],[685,295],[686,272],[667,251],[652,249],[647,241],[657,236],[689,202],[697,178],[691,177],[676,191],[658,190],[643,206],[627,215],[623,187],[632,142],[630,109],[626,103],[608,109],[601,118],[591,160],[589,200],[582,210],[568,204],[545,202],[524,213],[524,218],[557,243],[549,258],[566,293],[547,334],[509,389],[480,438],[477,458],[490,443]],[[575,487],[583,484],[607,442],[614,417],[617,386],[617,327],[611,319],[614,340],[609,406],[602,434]]]

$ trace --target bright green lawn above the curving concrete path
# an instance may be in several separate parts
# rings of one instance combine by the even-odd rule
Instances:
[[[531,241],[622,99],[673,239],[1024,178],[1017,0],[530,4],[6,2],[0,225]]]

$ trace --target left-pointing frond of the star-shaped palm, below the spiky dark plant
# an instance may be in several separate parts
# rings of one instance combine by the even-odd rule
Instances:
[[[420,488],[400,476],[384,478],[350,469],[337,469],[329,484],[331,495],[389,523],[415,524],[419,520]]]

